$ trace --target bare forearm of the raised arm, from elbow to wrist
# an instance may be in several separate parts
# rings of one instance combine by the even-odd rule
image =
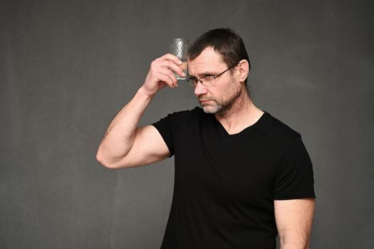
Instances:
[[[98,148],[97,158],[101,163],[111,164],[128,154],[133,146],[137,124],[151,100],[152,95],[140,88],[110,122]]]

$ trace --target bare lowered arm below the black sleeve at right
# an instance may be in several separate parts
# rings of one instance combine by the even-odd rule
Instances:
[[[274,214],[281,245],[298,245],[304,248],[309,243],[314,198],[274,201]]]

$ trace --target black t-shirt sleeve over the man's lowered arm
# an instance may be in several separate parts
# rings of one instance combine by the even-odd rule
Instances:
[[[286,147],[274,183],[274,200],[296,198],[316,198],[313,165],[301,136]]]

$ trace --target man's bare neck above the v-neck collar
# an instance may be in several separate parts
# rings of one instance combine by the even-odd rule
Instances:
[[[257,122],[263,113],[243,89],[232,107],[224,113],[215,114],[215,117],[229,134],[236,134]]]

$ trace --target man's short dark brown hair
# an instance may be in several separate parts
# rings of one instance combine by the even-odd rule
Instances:
[[[231,28],[216,28],[203,33],[189,46],[187,51],[188,60],[197,58],[207,47],[214,48],[214,51],[221,55],[227,67],[239,63],[240,60],[248,60],[249,69],[251,69],[244,42]],[[233,72],[234,68],[230,71]],[[246,85],[246,80],[244,83]]]

